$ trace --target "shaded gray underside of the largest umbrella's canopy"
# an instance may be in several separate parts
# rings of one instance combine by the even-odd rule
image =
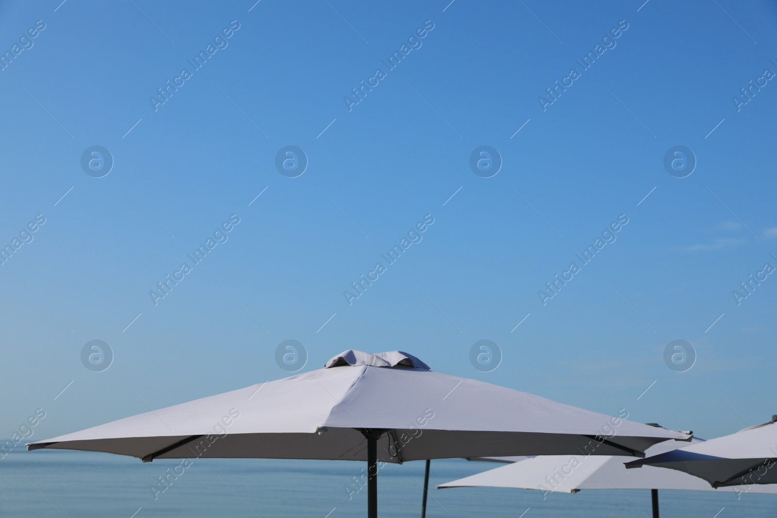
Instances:
[[[601,439],[601,438],[600,438]],[[660,438],[594,437],[560,433],[394,429],[378,440],[384,462],[512,455],[634,455]],[[287,458],[366,461],[367,441],[357,429],[318,433],[230,433],[226,436],[151,436],[37,443],[33,449],[100,451],[155,458]]]

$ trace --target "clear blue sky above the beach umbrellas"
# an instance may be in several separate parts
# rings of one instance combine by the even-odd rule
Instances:
[[[4,2],[3,52],[38,20],[0,71],[0,242],[45,217],[0,266],[0,436],[36,408],[42,439],[284,377],[287,339],[304,370],[402,349],[706,437],[777,412],[777,280],[732,295],[777,266],[777,83],[733,101],[777,72],[772,3]],[[543,110],[570,68],[580,77]],[[80,165],[95,145],[113,156],[102,178]],[[275,166],[290,145],[308,158],[296,178]],[[503,162],[491,178],[469,167],[483,145]],[[697,161],[685,178],[664,169],[677,145]],[[154,304],[233,214],[226,242]],[[343,292],[427,214],[422,240],[349,305]],[[543,305],[545,283],[622,215]],[[94,339],[113,349],[102,372],[81,361]],[[491,372],[469,361],[482,339],[503,355]],[[676,339],[697,354],[685,372],[664,363]]]

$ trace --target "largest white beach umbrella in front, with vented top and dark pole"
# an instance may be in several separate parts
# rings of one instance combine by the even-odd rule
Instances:
[[[367,461],[368,516],[384,463],[520,454],[641,455],[687,439],[483,381],[407,353],[347,350],[324,368],[27,445],[165,458]]]

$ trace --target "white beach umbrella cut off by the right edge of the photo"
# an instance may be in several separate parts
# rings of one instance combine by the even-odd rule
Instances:
[[[770,422],[731,435],[635,459],[627,463],[626,468],[671,468],[703,478],[713,488],[775,484],[777,469],[772,469],[777,461],[775,421],[777,415]]]

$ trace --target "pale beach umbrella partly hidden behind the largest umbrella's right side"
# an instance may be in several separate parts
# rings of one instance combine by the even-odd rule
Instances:
[[[704,442],[696,437],[691,440],[692,444]],[[674,450],[677,446],[677,441],[667,440],[648,448],[645,454],[660,454]],[[650,489],[653,518],[659,516],[659,489],[716,491],[701,478],[681,471],[667,471],[650,466],[640,470],[627,470],[623,463],[632,459],[633,457],[584,455],[489,458],[483,460],[508,461],[510,464],[446,482],[437,488],[523,488],[537,489],[544,492],[544,495],[549,492],[576,493],[583,489]],[[737,490],[738,488],[720,489],[731,492]],[[777,485],[762,485],[754,492],[777,494]]]

